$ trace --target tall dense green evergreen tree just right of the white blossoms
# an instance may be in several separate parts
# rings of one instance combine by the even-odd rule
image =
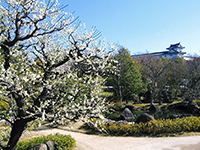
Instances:
[[[144,90],[140,67],[124,47],[119,48],[114,59],[118,62],[118,73],[108,79],[107,85],[113,87],[113,92],[120,102],[128,102]]]

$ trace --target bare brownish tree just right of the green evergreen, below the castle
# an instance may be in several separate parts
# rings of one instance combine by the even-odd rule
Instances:
[[[151,93],[150,103],[152,104],[153,100],[157,99],[160,92],[167,85],[167,76],[170,72],[172,61],[169,58],[159,59],[155,56],[144,56],[140,59],[140,63],[142,65],[142,74],[148,81],[148,91]]]

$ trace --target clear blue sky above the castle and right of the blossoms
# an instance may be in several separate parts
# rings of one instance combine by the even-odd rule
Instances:
[[[107,42],[131,54],[166,50],[181,42],[200,55],[200,0],[60,0],[87,29],[95,26]]]

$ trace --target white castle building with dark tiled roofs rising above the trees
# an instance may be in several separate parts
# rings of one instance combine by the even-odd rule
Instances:
[[[180,42],[176,44],[171,44],[170,47],[166,48],[167,51],[155,52],[155,53],[147,53],[147,54],[140,54],[140,55],[132,55],[133,58],[140,58],[140,57],[157,57],[157,58],[175,58],[175,57],[183,57],[186,52],[182,52],[183,47]]]

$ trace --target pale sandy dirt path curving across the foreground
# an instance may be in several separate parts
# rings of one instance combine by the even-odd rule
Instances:
[[[22,137],[61,133],[71,135],[77,142],[76,150],[200,150],[200,136],[136,138],[88,135],[62,129],[26,131]]]

